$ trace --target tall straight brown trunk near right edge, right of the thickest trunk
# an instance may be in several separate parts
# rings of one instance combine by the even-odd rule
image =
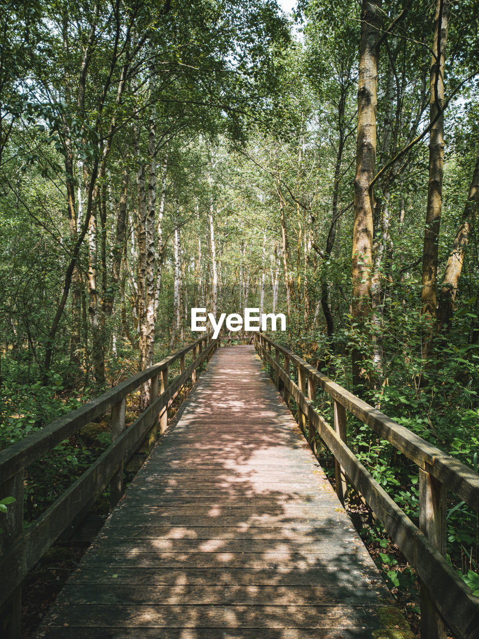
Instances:
[[[423,249],[421,302],[423,314],[436,318],[439,227],[443,206],[444,173],[444,58],[448,35],[449,0],[437,0],[436,25],[430,66],[430,122],[436,119],[429,142],[429,183]],[[437,117],[439,114],[439,117]]]

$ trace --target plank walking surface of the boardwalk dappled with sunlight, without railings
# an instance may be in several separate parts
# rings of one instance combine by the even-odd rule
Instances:
[[[216,352],[40,636],[412,637],[389,599],[253,346],[236,346]]]

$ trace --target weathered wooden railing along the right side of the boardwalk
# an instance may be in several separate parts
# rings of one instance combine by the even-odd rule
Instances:
[[[304,433],[308,422],[308,440],[313,450],[313,434],[316,432],[333,453],[336,491],[340,500],[343,501],[347,482],[350,482],[382,522],[409,564],[416,569],[421,584],[422,639],[445,639],[445,624],[458,639],[478,639],[479,597],[473,596],[444,558],[448,489],[479,511],[478,473],[372,408],[266,335],[256,334],[255,346],[263,361],[271,367],[278,389],[279,380],[283,382],[285,401],[289,403],[292,397],[297,404],[298,421]],[[291,367],[297,369],[297,383],[292,379]],[[333,399],[334,427],[327,424],[313,405],[317,387]],[[347,447],[347,411],[418,465],[419,528]]]

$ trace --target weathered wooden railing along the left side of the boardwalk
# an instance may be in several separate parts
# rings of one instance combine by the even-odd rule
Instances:
[[[209,358],[218,340],[212,333],[173,353],[159,364],[141,371],[129,380],[107,390],[88,404],[45,426],[0,452],[0,499],[14,497],[6,514],[0,516],[0,607],[10,604],[8,633],[20,636],[22,580],[45,551],[72,522],[86,514],[98,495],[110,483],[111,508],[122,495],[123,463],[141,447],[151,449],[157,435],[167,427],[168,408],[175,397],[184,396],[185,384],[196,381],[196,369]],[[192,362],[185,367],[185,355]],[[179,363],[180,374],[168,383],[168,370]],[[151,380],[150,405],[125,429],[127,395]],[[112,443],[70,488],[23,531],[24,470],[43,454],[77,433],[79,429],[111,410]]]

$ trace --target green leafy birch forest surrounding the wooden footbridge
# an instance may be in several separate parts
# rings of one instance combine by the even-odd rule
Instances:
[[[192,307],[257,307],[477,472],[476,0],[2,0],[0,24],[0,449],[192,343]],[[348,427],[417,517],[412,465]],[[94,454],[55,449],[26,521]],[[414,573],[365,539],[413,615]]]

